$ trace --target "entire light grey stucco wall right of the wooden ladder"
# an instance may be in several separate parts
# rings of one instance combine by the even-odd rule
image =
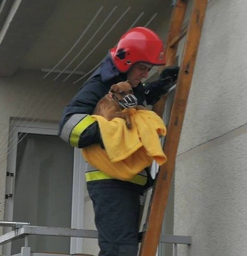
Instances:
[[[247,2],[208,3],[176,161],[179,256],[247,254]]]

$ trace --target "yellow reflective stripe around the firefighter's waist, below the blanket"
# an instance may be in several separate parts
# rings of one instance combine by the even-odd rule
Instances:
[[[99,171],[99,170],[89,171],[89,172],[86,172],[85,174],[86,174],[86,181],[113,179],[112,177],[106,175],[105,173],[103,173],[102,171]],[[147,182],[147,177],[137,174],[137,175],[135,175],[134,178],[132,178],[131,180],[128,180],[128,181],[144,186]]]

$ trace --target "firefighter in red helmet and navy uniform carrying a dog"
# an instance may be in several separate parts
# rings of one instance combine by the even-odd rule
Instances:
[[[126,32],[110,49],[100,67],[83,84],[68,106],[59,125],[59,136],[73,147],[84,148],[100,143],[98,123],[90,116],[110,86],[130,81],[138,105],[156,103],[174,85],[178,67],[165,68],[159,79],[142,84],[152,66],[166,63],[163,44],[157,34],[145,27]],[[95,212],[100,256],[136,256],[138,250],[139,200],[152,178],[143,170],[130,181],[110,178],[87,166],[87,189]]]

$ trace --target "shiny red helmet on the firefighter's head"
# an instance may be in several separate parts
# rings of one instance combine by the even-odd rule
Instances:
[[[117,69],[125,73],[133,64],[144,62],[152,65],[166,63],[163,42],[155,32],[145,27],[135,27],[126,32],[110,55]]]

